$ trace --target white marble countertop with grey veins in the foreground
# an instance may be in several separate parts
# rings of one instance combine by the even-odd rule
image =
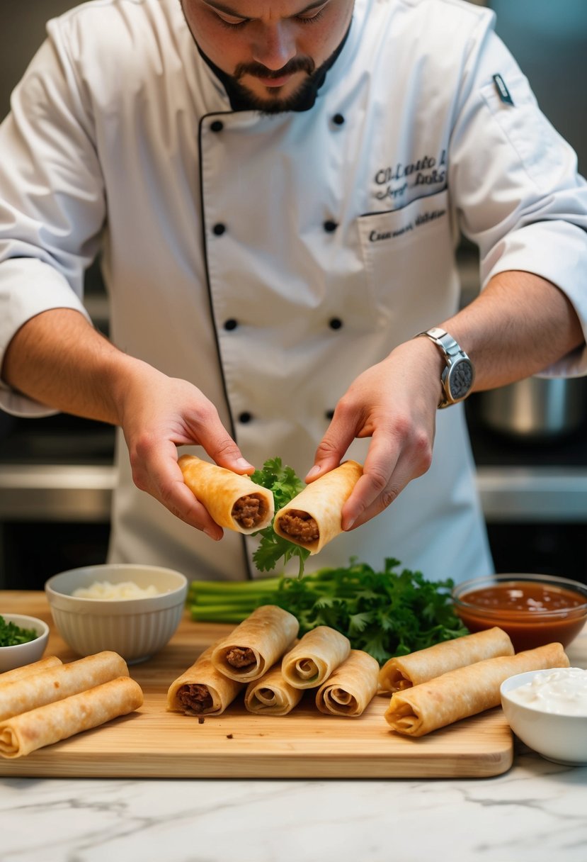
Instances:
[[[587,667],[587,633],[567,649]],[[1,862],[585,862],[587,766],[496,778],[0,778]]]

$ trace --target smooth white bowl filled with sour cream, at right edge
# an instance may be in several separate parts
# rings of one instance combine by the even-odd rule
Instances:
[[[528,747],[555,763],[587,764],[587,670],[518,673],[500,692],[510,728]]]

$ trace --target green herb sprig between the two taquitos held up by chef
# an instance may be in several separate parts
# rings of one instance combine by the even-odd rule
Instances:
[[[273,491],[275,511],[289,503],[300,493],[300,490],[306,487],[296,476],[292,467],[281,464],[281,458],[265,461],[263,469],[256,470],[250,478],[256,484],[263,485],[263,488],[269,488]],[[253,561],[259,572],[272,572],[280,559],[283,559],[285,566],[290,559],[297,557],[299,560],[298,577],[301,578],[304,573],[304,563],[310,555],[307,548],[294,545],[294,542],[287,541],[287,539],[282,539],[275,533],[273,524],[259,530],[256,535],[261,535],[261,540],[253,554]]]

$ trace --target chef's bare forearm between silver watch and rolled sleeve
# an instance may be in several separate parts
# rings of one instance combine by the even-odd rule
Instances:
[[[502,272],[473,303],[440,324],[475,366],[475,390],[544,371],[584,343],[562,290],[530,272]]]

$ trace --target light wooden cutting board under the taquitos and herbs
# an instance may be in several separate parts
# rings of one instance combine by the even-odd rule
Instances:
[[[42,592],[3,591],[0,614],[44,619],[46,655],[77,656],[57,634]],[[360,718],[322,715],[312,692],[283,717],[251,715],[232,703],[224,715],[166,711],[167,690],[213,640],[232,626],[184,616],[170,644],[129,667],[145,694],[135,713],[47,746],[28,757],[0,758],[1,776],[49,778],[484,778],[510,768],[513,740],[501,708],[419,740],[394,734],[377,696]]]

